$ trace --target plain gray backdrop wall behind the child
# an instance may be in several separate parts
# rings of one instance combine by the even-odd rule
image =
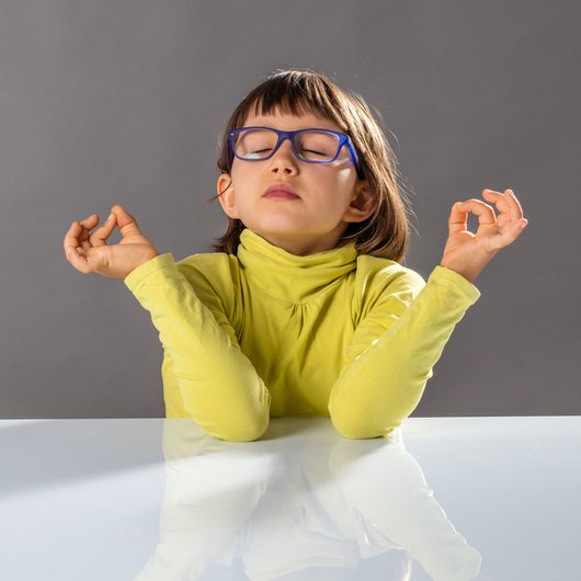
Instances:
[[[163,415],[149,314],[123,281],[76,271],[62,238],[121,203],[160,252],[208,251],[226,227],[219,203],[204,203],[218,138],[247,92],[286,67],[329,75],[381,113],[413,192],[406,265],[425,278],[454,202],[512,187],[529,220],[477,278],[482,296],[413,415],[580,414],[580,12],[2,0],[0,417]]]

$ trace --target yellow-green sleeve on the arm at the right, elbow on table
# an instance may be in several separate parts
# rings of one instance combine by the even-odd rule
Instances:
[[[426,284],[409,270],[390,282],[355,329],[332,387],[329,413],[339,433],[367,438],[399,426],[418,406],[454,327],[479,297],[472,283],[441,265]]]

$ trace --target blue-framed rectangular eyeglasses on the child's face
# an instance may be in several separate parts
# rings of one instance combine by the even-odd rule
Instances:
[[[228,163],[233,157],[243,161],[264,161],[272,158],[281,144],[289,139],[296,158],[307,163],[331,163],[346,146],[360,178],[360,160],[349,135],[332,129],[298,129],[281,132],[271,127],[238,127],[228,134]]]

